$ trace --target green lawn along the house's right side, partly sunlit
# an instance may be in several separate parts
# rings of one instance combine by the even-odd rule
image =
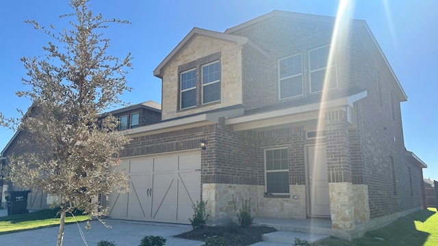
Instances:
[[[353,241],[328,238],[311,245],[321,246],[438,246],[438,213],[437,208],[419,210],[393,223],[367,232],[365,236]]]

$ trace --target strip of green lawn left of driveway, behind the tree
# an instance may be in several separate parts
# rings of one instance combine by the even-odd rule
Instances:
[[[80,213],[75,214],[75,217],[68,215],[66,223],[86,221],[87,219],[88,215],[81,215]],[[57,215],[57,210],[44,209],[34,213],[0,217],[0,234],[57,226],[59,224],[60,215]]]

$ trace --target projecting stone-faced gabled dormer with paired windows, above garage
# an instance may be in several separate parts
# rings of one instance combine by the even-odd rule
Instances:
[[[162,120],[242,105],[242,55],[266,56],[248,38],[194,28],[154,70]]]

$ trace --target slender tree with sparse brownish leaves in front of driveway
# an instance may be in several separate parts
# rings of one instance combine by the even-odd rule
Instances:
[[[123,105],[120,94],[130,91],[125,74],[131,55],[119,59],[106,54],[110,40],[99,32],[110,23],[129,23],[116,18],[93,15],[89,0],[70,0],[73,13],[70,29],[44,29],[35,20],[26,20],[48,34],[53,42],[41,57],[23,57],[27,69],[24,85],[17,92],[29,98],[32,106],[21,120],[6,119],[0,124],[29,135],[27,144],[36,152],[12,155],[8,161],[10,180],[19,187],[40,189],[60,198],[60,230],[57,245],[62,245],[66,213],[79,209],[90,217],[107,214],[108,208],[92,202],[98,195],[126,192],[127,176],[116,171],[118,153],[129,138],[114,131],[118,120],[101,113]]]

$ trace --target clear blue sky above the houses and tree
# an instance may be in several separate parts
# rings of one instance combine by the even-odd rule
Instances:
[[[17,117],[16,109],[26,110],[30,102],[18,98],[26,71],[20,58],[44,55],[41,47],[49,36],[23,20],[62,29],[58,16],[70,13],[67,0],[14,0],[0,3],[0,112]],[[132,53],[133,70],[127,75],[133,91],[123,94],[132,103],[161,102],[161,81],[153,70],[193,28],[225,31],[272,10],[336,16],[335,0],[222,0],[146,1],[93,0],[92,10],[107,18],[122,18],[131,25],[112,25],[104,30],[111,39],[108,53],[124,57]],[[404,144],[428,168],[424,178],[438,180],[438,1],[366,1],[354,3],[352,18],[366,20],[389,64],[407,93],[402,102]],[[0,127],[0,150],[14,132]],[[437,152],[436,152],[437,151]]]

